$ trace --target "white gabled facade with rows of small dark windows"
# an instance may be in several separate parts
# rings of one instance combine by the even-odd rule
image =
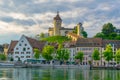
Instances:
[[[22,62],[33,58],[33,48],[24,35],[14,48],[13,58],[14,61],[18,61],[18,58],[20,58]]]

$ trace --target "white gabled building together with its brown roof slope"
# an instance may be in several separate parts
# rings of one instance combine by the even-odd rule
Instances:
[[[14,47],[13,59],[14,61],[18,61],[18,59],[20,59],[22,62],[28,59],[35,59],[34,49],[38,49],[41,52],[44,45],[45,42],[40,42],[38,40],[22,35],[22,37]]]

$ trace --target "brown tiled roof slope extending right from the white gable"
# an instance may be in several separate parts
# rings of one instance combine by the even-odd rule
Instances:
[[[30,37],[27,37],[25,36],[26,39],[28,40],[28,42],[30,43],[31,47],[34,49],[34,48],[37,48],[39,49],[40,51],[42,51],[43,47],[45,46],[46,42],[45,41],[38,41],[36,39],[33,39],[33,38],[30,38]]]

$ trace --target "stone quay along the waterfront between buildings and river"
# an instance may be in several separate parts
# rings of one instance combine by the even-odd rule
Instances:
[[[51,65],[51,64],[22,64],[22,63],[0,63],[0,68],[79,68],[79,69],[110,69],[110,70],[120,70],[120,67],[105,67],[105,66],[89,66],[89,65]]]

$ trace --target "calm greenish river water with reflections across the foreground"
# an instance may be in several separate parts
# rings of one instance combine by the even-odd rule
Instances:
[[[0,80],[120,80],[120,70],[0,68]]]

